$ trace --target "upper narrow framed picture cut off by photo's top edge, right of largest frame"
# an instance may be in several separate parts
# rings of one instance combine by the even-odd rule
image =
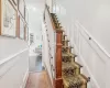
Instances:
[[[18,3],[19,3],[18,4],[19,12],[21,13],[21,15],[23,18],[25,18],[25,2],[24,2],[24,0],[19,0]]]

